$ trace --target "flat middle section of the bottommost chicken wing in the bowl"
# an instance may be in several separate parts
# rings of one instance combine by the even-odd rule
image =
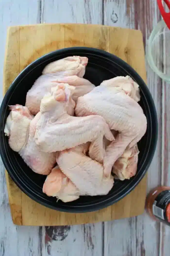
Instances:
[[[113,177],[104,177],[103,165],[85,155],[88,144],[61,151],[57,163],[61,171],[80,190],[80,195],[107,195],[113,187]]]

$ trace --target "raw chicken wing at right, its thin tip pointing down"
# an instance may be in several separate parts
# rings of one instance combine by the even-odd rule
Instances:
[[[110,80],[103,81],[100,86],[79,97],[75,108],[76,116],[101,115],[111,130],[119,132],[106,148],[103,162],[106,177],[109,177],[115,161],[124,153],[126,147],[133,147],[145,134],[147,127],[146,116],[140,105],[129,97],[129,89],[126,86],[123,89],[120,85],[116,86],[118,77]],[[134,88],[133,80],[129,81],[128,77],[123,80],[132,84],[131,90]],[[138,96],[134,94],[136,100]]]

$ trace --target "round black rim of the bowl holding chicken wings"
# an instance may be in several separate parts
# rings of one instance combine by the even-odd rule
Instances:
[[[88,51],[91,51],[93,52],[94,54],[101,54],[103,55],[105,58],[113,58],[114,57],[114,60],[116,61],[116,63],[120,63],[121,67],[122,65],[124,66],[123,69],[128,69],[130,70],[130,72],[133,72],[134,75],[136,76],[136,78],[138,80],[140,80],[140,82],[143,84],[143,86],[145,87],[145,89],[147,90],[147,94],[150,98],[150,102],[152,104],[152,115],[154,116],[155,118],[155,124],[156,126],[154,127],[154,141],[152,143],[153,145],[153,148],[152,148],[152,152],[149,152],[150,153],[150,159],[147,163],[147,166],[145,168],[145,170],[143,171],[143,173],[140,175],[140,177],[138,178],[138,180],[134,183],[134,185],[132,185],[127,191],[126,193],[122,193],[117,199],[114,199],[112,200],[111,198],[110,199],[107,199],[106,201],[107,202],[102,202],[102,205],[101,203],[98,203],[98,205],[90,205],[90,206],[81,206],[80,208],[79,207],[76,207],[76,208],[73,208],[73,209],[61,209],[61,208],[58,208],[57,206],[56,207],[53,207],[51,205],[48,205],[47,203],[45,203],[43,200],[41,199],[37,199],[36,196],[34,196],[34,194],[31,194],[26,187],[24,187],[24,184],[20,184],[20,182],[18,182],[18,179],[15,177],[15,175],[12,173],[11,171],[11,168],[10,168],[10,163],[8,161],[6,161],[5,157],[4,157],[4,152],[2,150],[2,145],[0,143],[0,155],[2,157],[2,161],[4,163],[4,166],[8,172],[8,174],[10,175],[10,177],[12,178],[12,180],[16,183],[16,185],[26,194],[28,195],[31,199],[33,199],[34,201],[40,203],[41,205],[44,205],[48,208],[51,208],[51,209],[54,209],[54,210],[58,210],[58,211],[61,211],[61,212],[70,212],[70,213],[81,213],[81,212],[93,212],[93,211],[97,211],[97,210],[100,210],[100,209],[103,209],[103,208],[106,208],[110,205],[113,205],[114,203],[116,203],[117,201],[121,200],[122,198],[124,198],[126,195],[128,195],[138,184],[139,182],[141,181],[141,179],[145,176],[151,162],[152,162],[152,159],[153,159],[153,156],[154,156],[154,153],[155,153],[155,150],[156,150],[156,144],[157,144],[157,140],[158,140],[158,118],[157,118],[157,113],[156,113],[156,108],[155,108],[155,104],[154,104],[154,101],[153,101],[153,98],[152,98],[152,95],[147,87],[147,85],[145,84],[145,82],[143,81],[143,79],[139,76],[139,74],[128,64],[126,63],[124,60],[120,59],[119,57],[115,56],[114,54],[111,54],[107,51],[104,51],[104,50],[101,50],[101,49],[96,49],[96,48],[92,48],[92,47],[68,47],[68,48],[62,48],[62,49],[59,49],[59,50],[55,50],[55,51],[52,51],[52,52],[49,52],[43,56],[41,56],[40,58],[36,59],[35,61],[33,61],[32,63],[30,63],[26,68],[24,68],[20,73],[19,75],[15,78],[15,80],[11,83],[8,91],[6,92],[4,98],[3,98],[3,101],[2,101],[2,104],[1,104],[1,108],[0,108],[0,116],[1,116],[1,113],[4,109],[4,107],[6,106],[5,105],[5,101],[6,99],[9,97],[10,93],[11,93],[11,90],[13,87],[16,86],[16,83],[18,80],[20,80],[20,76],[24,73],[24,72],[27,72],[27,70],[30,69],[30,67],[33,65],[33,66],[38,66],[39,65],[39,62],[41,62],[44,58],[46,57],[49,57],[49,58],[53,58],[55,55],[58,55],[58,54],[62,54],[62,53],[67,53],[67,51],[70,51],[70,50],[88,50]],[[29,72],[27,72],[29,73]],[[128,186],[127,186],[128,187]],[[39,197],[41,198],[41,197]],[[104,204],[104,205],[103,205]],[[85,208],[85,209],[84,209]]]

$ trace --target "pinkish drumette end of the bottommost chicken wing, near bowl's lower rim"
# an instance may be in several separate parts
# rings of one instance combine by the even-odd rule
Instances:
[[[79,189],[61,172],[58,166],[54,167],[47,176],[43,185],[43,192],[47,196],[56,196],[63,202],[74,201],[80,195]]]

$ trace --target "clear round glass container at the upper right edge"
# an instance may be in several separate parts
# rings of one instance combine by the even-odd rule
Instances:
[[[156,25],[148,39],[146,58],[152,70],[170,83],[170,30],[164,20]]]

